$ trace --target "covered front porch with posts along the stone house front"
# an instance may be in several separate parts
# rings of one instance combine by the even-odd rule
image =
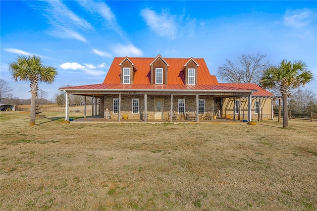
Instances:
[[[215,91],[65,91],[65,120],[69,119],[68,94],[93,97],[92,115],[104,122],[210,122],[220,117],[222,99],[244,96],[248,99],[251,121],[251,95],[254,90]],[[86,102],[86,100],[84,101]],[[97,103],[99,102],[99,103]],[[87,117],[86,105],[84,117]],[[102,120],[101,118],[104,118]],[[85,118],[84,118],[85,119]],[[78,120],[88,122],[87,120]],[[97,121],[97,120],[92,120]]]

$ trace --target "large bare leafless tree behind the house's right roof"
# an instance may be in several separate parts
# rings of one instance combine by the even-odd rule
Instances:
[[[235,66],[229,59],[226,63],[218,66],[217,76],[228,83],[255,83],[260,84],[264,70],[269,66],[269,61],[263,61],[265,54],[253,55],[242,54],[238,56],[240,66]]]

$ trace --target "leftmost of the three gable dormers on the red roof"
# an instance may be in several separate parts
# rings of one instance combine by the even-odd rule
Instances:
[[[130,61],[128,57],[125,57],[119,65],[121,67],[120,83],[133,84],[134,74],[138,70],[136,66]]]

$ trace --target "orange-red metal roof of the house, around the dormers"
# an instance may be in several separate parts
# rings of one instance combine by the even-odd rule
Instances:
[[[160,56],[160,55],[159,55]],[[158,56],[158,57],[159,57]],[[150,64],[158,57],[115,57],[102,84],[83,85],[74,87],[64,87],[61,89],[70,90],[160,90],[160,91],[259,91],[254,96],[274,96],[263,90],[256,84],[230,84],[218,83],[216,77],[211,75],[206,62],[203,58],[163,58],[168,64],[167,84],[151,84],[150,82]],[[133,84],[120,83],[120,64],[128,58],[135,68]],[[197,85],[186,85],[182,70],[191,59],[197,64]]]

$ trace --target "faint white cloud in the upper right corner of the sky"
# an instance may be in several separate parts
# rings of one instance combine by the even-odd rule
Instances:
[[[300,28],[312,22],[316,15],[309,9],[288,10],[283,16],[286,26]]]

